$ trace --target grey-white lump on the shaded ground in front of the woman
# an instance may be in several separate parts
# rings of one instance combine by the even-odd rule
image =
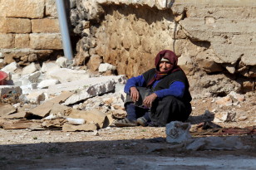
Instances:
[[[191,138],[190,123],[182,123],[173,121],[166,124],[166,142],[167,143],[183,143]]]

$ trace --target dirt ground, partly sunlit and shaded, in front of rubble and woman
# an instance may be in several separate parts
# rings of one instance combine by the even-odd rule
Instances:
[[[223,127],[256,125],[256,95],[247,94],[235,106],[222,106],[215,98],[193,100],[192,127],[205,120],[204,111],[233,110],[235,122]],[[95,132],[30,131],[0,129],[0,169],[255,169],[256,137],[239,135],[242,150],[170,149],[165,128],[107,127]],[[193,136],[200,138],[200,136]]]

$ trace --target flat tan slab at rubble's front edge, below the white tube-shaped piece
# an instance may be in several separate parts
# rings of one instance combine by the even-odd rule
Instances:
[[[96,124],[81,124],[81,125],[73,125],[73,124],[63,124],[62,131],[64,132],[75,132],[75,131],[94,131],[97,129]]]

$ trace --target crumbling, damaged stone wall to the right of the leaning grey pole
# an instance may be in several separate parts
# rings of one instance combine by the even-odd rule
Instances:
[[[180,56],[192,90],[225,95],[255,88],[256,2],[71,2],[74,32],[81,35],[79,64],[108,62],[130,77],[153,67],[158,51],[170,49]]]

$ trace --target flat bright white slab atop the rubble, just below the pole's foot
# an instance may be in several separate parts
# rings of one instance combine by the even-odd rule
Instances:
[[[90,77],[86,70],[71,70],[66,68],[48,71],[47,76],[51,79],[57,79],[62,83],[70,82],[73,80],[83,80]]]

